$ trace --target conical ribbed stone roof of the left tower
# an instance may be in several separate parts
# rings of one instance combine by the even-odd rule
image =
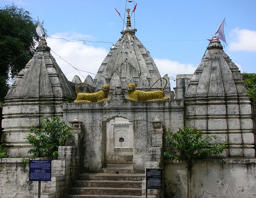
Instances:
[[[6,99],[14,98],[58,98],[71,100],[75,95],[65,75],[50,53],[45,37],[26,67],[13,82]]]

